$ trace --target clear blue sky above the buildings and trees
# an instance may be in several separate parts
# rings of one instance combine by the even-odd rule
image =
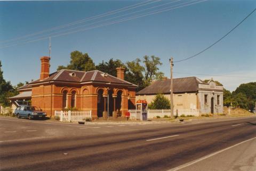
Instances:
[[[49,36],[51,73],[67,65],[70,53],[79,50],[96,65],[110,58],[126,62],[155,55],[163,63],[159,71],[170,78],[170,57],[178,61],[200,52],[255,7],[256,1],[249,0],[0,1],[4,79],[13,85],[38,79],[39,58],[49,55]],[[56,29],[49,31],[52,28]],[[234,91],[242,83],[256,81],[255,45],[256,12],[204,53],[174,63],[173,76],[213,78]]]

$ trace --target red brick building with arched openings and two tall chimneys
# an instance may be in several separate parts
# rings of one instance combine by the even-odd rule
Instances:
[[[128,109],[135,107],[138,86],[124,80],[123,68],[116,70],[117,77],[98,70],[60,70],[50,74],[50,58],[44,56],[40,79],[20,87],[18,98],[22,93],[31,94],[31,105],[41,108],[48,116],[65,108],[92,110],[93,118],[107,117],[108,110],[114,118],[124,116]]]

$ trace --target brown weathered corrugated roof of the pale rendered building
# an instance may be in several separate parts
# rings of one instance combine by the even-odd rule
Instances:
[[[202,81],[193,77],[177,78],[173,79],[173,93],[179,92],[196,92],[198,89],[198,83]],[[136,95],[154,95],[157,93],[170,93],[171,81],[159,80],[153,82],[150,86],[142,89],[136,93]]]

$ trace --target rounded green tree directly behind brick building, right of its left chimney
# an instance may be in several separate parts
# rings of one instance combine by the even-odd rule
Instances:
[[[78,71],[92,71],[95,69],[95,65],[91,59],[91,57],[85,53],[79,52],[75,50],[70,53],[70,64],[67,66],[60,65],[58,66],[58,71],[61,69],[68,70],[78,70]]]

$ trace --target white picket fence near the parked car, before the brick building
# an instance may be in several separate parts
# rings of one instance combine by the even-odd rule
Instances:
[[[91,110],[55,110],[54,116],[59,116],[61,122],[84,122],[92,118]]]

